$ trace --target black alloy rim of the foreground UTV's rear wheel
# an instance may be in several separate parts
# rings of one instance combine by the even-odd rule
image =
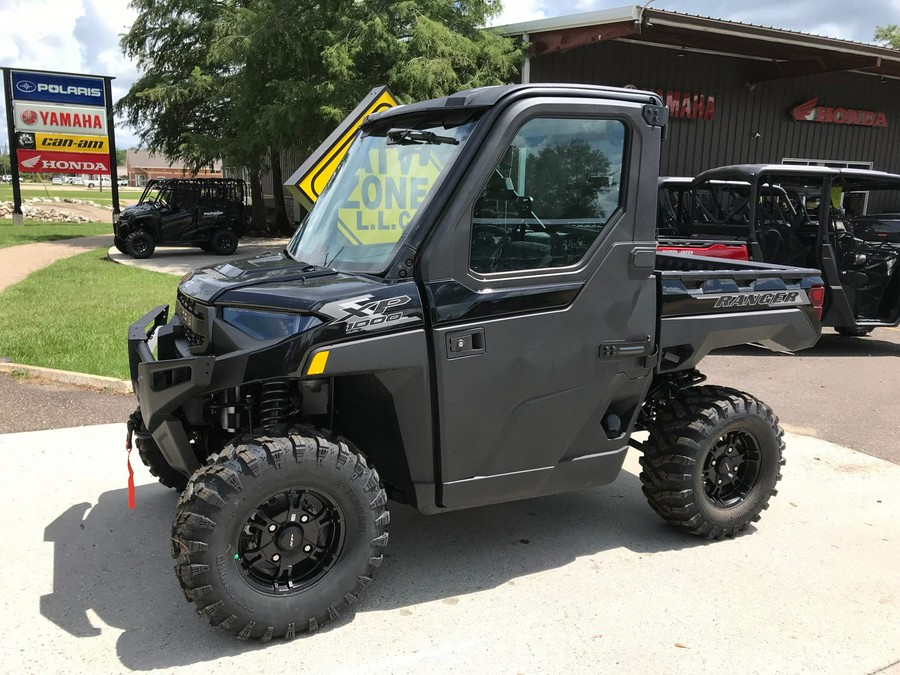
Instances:
[[[756,439],[745,431],[723,434],[703,463],[703,490],[718,507],[743,502],[759,480],[762,452]]]

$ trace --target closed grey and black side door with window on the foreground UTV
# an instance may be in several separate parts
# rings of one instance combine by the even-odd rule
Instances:
[[[423,254],[445,507],[610,482],[651,375],[641,106],[532,101],[494,128]]]

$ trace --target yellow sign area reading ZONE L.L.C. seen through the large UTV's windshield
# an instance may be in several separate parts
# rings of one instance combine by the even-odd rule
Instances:
[[[355,246],[392,244],[431,192],[446,157],[430,145],[394,145],[372,148],[366,159],[338,209],[337,227]]]

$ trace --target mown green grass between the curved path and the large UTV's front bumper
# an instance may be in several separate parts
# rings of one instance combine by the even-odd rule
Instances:
[[[127,379],[128,326],[174,305],[178,277],[119,265],[105,250],[66,258],[0,293],[0,356]]]

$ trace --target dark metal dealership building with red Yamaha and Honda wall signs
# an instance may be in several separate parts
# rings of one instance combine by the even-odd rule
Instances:
[[[663,175],[745,163],[900,173],[900,50],[639,6],[500,30],[529,44],[523,82],[658,92],[671,120]]]

